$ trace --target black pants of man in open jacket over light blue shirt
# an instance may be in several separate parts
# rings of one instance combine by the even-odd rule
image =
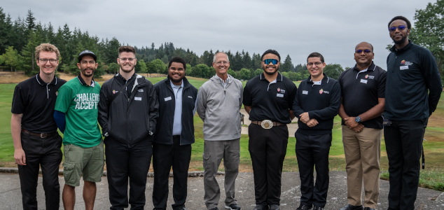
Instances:
[[[185,207],[191,145],[180,145],[180,140],[179,136],[174,136],[173,144],[153,144],[153,205],[155,209],[167,209],[168,179],[171,167],[173,167],[174,175],[172,208]]]

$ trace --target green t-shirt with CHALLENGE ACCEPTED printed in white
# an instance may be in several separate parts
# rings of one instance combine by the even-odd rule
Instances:
[[[94,83],[94,87],[82,85],[76,77],[60,87],[55,110],[65,113],[63,145],[90,148],[102,141],[97,124],[100,85]]]

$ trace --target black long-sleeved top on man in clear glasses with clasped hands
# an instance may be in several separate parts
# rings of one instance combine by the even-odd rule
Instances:
[[[301,113],[308,112],[310,120],[314,118],[319,124],[308,127],[307,124],[298,120],[299,128],[296,132],[307,136],[331,134],[333,118],[339,112],[340,91],[338,80],[328,78],[325,73],[321,85],[314,85],[312,76],[300,82],[294,98],[293,113],[300,118]]]

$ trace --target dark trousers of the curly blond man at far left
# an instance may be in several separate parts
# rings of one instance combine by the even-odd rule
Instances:
[[[36,137],[21,133],[22,148],[26,165],[18,165],[23,209],[37,209],[37,181],[39,167],[43,176],[46,209],[59,209],[60,185],[59,166],[62,162],[62,137]]]

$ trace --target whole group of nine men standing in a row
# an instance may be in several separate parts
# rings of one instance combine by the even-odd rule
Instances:
[[[195,142],[193,116],[197,112],[204,122],[204,203],[209,210],[218,209],[221,190],[216,175],[223,159],[225,208],[239,210],[235,180],[243,104],[251,120],[254,210],[279,209],[289,139],[287,124],[295,117],[302,194],[297,209],[324,209],[333,118],[338,113],[347,163],[348,204],[341,210],[376,209],[382,128],[389,158],[389,209],[414,209],[424,130],[438,104],[442,84],[431,52],[408,40],[410,22],[397,16],[388,27],[395,45],[387,58],[387,72],[373,62],[373,45],[362,42],[354,49],[356,65],[341,73],[338,80],[323,72],[324,57],[311,53],[307,57],[310,76],[298,88],[279,73],[281,57],[276,50],[263,53],[263,73],[244,88],[227,73],[228,55],[216,53],[216,75],[197,90],[185,78],[186,63],[181,57],[173,57],[167,78],[153,85],[134,72],[134,48],[121,46],[117,59],[120,71],[101,88],[93,78],[98,65],[93,52],[85,50],[78,55],[81,71],[65,81],[55,77],[60,52],[54,45],[41,44],[36,48],[40,72],[15,87],[12,106],[14,158],[23,208],[37,209],[41,167],[46,209],[59,209],[57,175],[63,143],[64,209],[74,209],[75,187],[80,186],[82,176],[85,209],[93,209],[95,183],[101,181],[106,156],[110,209],[124,209],[128,204],[131,209],[144,208],[152,157],[154,209],[167,208],[172,168],[172,208],[186,210],[191,144]]]

